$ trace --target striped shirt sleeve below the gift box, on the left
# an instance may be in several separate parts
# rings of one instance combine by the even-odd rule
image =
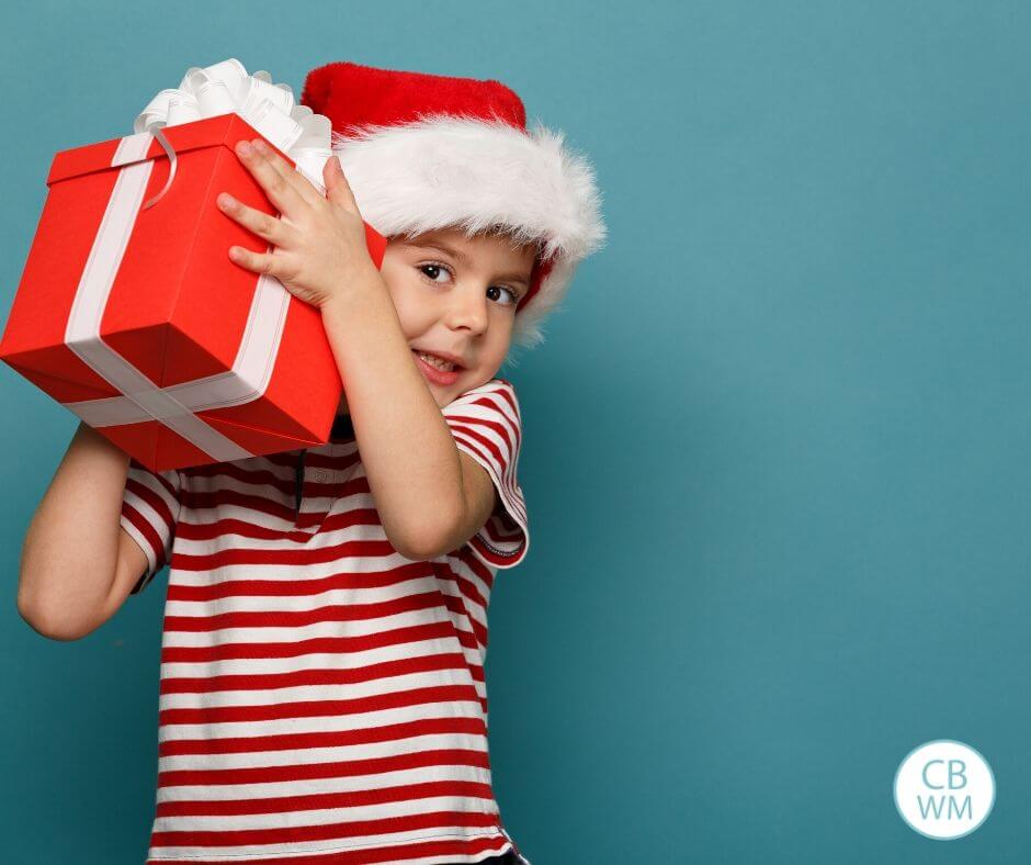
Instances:
[[[121,524],[147,557],[147,570],[131,595],[143,592],[169,560],[179,520],[182,479],[178,471],[154,473],[129,460]]]

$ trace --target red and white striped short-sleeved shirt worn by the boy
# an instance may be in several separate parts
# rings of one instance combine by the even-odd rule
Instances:
[[[484,659],[495,574],[529,549],[519,404],[494,379],[441,411],[501,506],[432,561],[386,539],[353,435],[159,474],[131,463],[121,521],[149,563],[133,594],[171,564],[148,865],[474,863],[514,846]]]

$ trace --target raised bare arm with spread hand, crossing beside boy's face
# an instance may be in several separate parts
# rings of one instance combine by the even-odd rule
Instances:
[[[322,169],[324,196],[261,141],[240,142],[237,154],[282,218],[219,195],[227,216],[271,245],[268,252],[235,246],[230,258],[276,277],[321,312],[370,490],[394,548],[413,559],[454,549],[477,530],[480,516],[489,516],[494,491],[483,469],[460,458],[411,359],[339,160],[328,159]]]

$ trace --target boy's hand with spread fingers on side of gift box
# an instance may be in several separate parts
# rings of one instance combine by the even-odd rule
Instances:
[[[322,308],[365,270],[378,273],[365,244],[365,225],[354,195],[332,156],[326,160],[324,196],[263,141],[240,142],[237,155],[261,186],[280,218],[248,207],[228,192],[219,209],[273,246],[252,252],[234,246],[229,257],[256,273],[269,273],[295,297]]]

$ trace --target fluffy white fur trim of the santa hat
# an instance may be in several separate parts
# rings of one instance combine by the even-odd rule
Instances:
[[[384,237],[501,228],[555,257],[516,316],[513,340],[523,346],[542,341],[541,323],[565,296],[577,265],[605,238],[590,165],[563,147],[563,133],[540,123],[522,132],[503,121],[420,116],[335,132],[333,151],[362,217]]]

